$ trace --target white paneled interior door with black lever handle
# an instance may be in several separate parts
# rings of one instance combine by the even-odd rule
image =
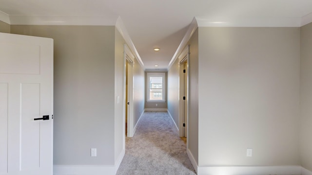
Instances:
[[[0,33],[0,143],[0,175],[53,174],[50,38]]]

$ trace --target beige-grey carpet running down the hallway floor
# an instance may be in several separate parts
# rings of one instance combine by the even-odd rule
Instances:
[[[196,175],[167,112],[145,112],[133,138],[126,138],[126,154],[117,175]]]

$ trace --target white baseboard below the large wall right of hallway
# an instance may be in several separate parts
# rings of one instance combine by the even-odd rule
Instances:
[[[197,175],[301,175],[300,166],[199,166]]]

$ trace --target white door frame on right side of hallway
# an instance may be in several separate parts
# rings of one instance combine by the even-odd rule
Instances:
[[[178,60],[179,60],[179,136],[180,137],[187,137],[188,136],[188,123],[189,123],[189,59],[190,59],[190,46],[188,45],[187,47],[184,48],[184,50],[182,51],[182,53],[178,56]],[[186,81],[185,82],[185,77],[184,77],[184,64],[186,63]],[[185,90],[185,84],[186,84],[186,90]],[[185,105],[184,105],[184,100],[183,100],[183,96],[184,96],[184,91],[186,91],[186,111],[185,112]],[[183,127],[183,123],[185,120],[185,115],[184,113],[186,113],[186,134],[184,132],[184,127]],[[188,139],[187,139],[188,140]]]

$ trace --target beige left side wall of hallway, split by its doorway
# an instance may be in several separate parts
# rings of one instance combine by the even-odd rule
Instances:
[[[120,158],[123,146],[123,118],[125,113],[125,104],[123,98],[125,92],[123,91],[124,84],[124,44],[126,43],[119,31],[115,30],[115,163]],[[135,127],[139,117],[144,111],[144,70],[138,63],[137,59],[133,59],[133,120],[132,126]],[[119,96],[119,103],[117,103],[117,97]]]

